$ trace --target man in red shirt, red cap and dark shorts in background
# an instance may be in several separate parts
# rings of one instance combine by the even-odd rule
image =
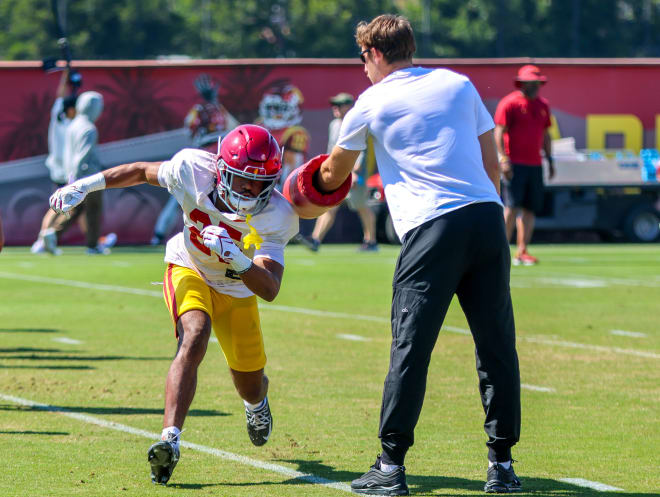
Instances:
[[[543,207],[541,148],[548,161],[549,177],[555,174],[550,147],[550,106],[538,96],[547,81],[538,67],[520,68],[509,93],[495,110],[495,143],[504,176],[502,198],[508,239],[517,226],[514,265],[531,266],[538,259],[527,252],[535,215]]]

